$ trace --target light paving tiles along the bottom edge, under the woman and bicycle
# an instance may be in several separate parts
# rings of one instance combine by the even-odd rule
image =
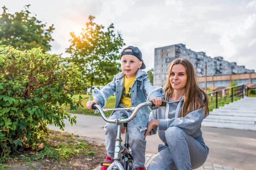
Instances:
[[[146,153],[146,163],[145,167],[148,167],[148,164],[151,162],[151,160],[156,156],[157,154],[154,153]],[[100,170],[100,166],[96,167],[94,170]],[[242,169],[234,169],[233,167],[226,167],[219,164],[210,164],[210,163],[204,163],[201,167],[199,167],[196,170],[242,170]]]

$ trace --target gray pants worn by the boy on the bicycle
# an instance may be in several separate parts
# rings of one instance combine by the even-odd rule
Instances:
[[[124,105],[119,105],[118,108],[124,108]],[[110,119],[120,119],[122,115],[131,116],[131,111],[114,111]],[[106,123],[105,127],[106,149],[109,157],[114,157],[115,139],[117,136],[117,125],[113,123]],[[128,135],[131,143],[131,152],[134,158],[134,169],[144,167],[145,164],[145,149],[146,140],[144,139],[145,130],[140,132],[135,125],[134,120],[127,124]],[[124,140],[124,139],[123,139]]]

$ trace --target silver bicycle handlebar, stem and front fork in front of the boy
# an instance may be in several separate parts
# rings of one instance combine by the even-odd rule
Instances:
[[[101,114],[102,118],[108,122],[108,123],[115,123],[116,125],[118,125],[117,127],[117,136],[115,139],[115,149],[114,149],[114,158],[113,158],[113,163],[108,167],[108,170],[125,170],[122,163],[120,162],[120,156],[121,153],[125,150],[125,153],[129,154],[129,150],[121,144],[122,139],[121,139],[121,130],[122,130],[122,123],[128,123],[130,122],[132,119],[134,119],[134,117],[137,115],[138,111],[140,110],[140,108],[144,107],[144,106],[154,106],[153,102],[144,102],[141,103],[140,105],[138,105],[137,107],[133,107],[133,108],[115,108],[115,109],[102,109],[99,105],[93,104],[92,105],[92,109],[98,109],[99,113]],[[166,102],[162,102],[161,106],[166,106]],[[134,110],[133,113],[131,114],[130,117],[128,117],[127,119],[108,119],[104,113],[104,111],[118,111],[118,110]],[[125,133],[125,143],[128,143],[128,133],[127,133],[127,129],[126,129],[126,133]],[[131,156],[131,159],[132,156]]]

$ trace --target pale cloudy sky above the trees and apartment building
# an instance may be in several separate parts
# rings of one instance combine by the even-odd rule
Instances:
[[[92,15],[99,25],[113,23],[125,47],[140,48],[145,71],[154,68],[154,48],[179,43],[256,71],[256,0],[0,0],[12,14],[28,4],[54,24],[50,54],[69,57],[70,32],[79,34]]]

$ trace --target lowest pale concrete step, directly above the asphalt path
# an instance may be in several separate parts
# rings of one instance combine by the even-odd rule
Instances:
[[[204,119],[202,122],[202,126],[208,126],[208,127],[220,127],[220,128],[231,128],[231,129],[241,129],[241,130],[256,130],[256,125],[251,124],[238,124],[235,122],[209,122]]]

